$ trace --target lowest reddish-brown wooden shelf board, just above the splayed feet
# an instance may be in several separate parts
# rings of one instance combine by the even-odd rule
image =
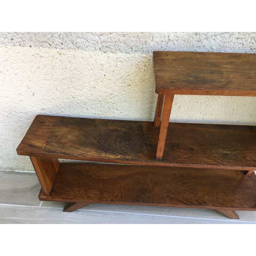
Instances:
[[[43,201],[256,211],[256,176],[243,171],[60,163]]]

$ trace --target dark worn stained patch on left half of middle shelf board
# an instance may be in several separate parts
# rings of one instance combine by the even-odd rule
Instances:
[[[67,148],[73,148],[74,155],[91,151],[95,155],[108,155],[111,152],[117,158],[127,155],[138,158],[150,148],[149,138],[141,123],[107,119],[87,119],[84,122],[84,118],[77,118],[76,121],[58,118],[52,125],[44,149],[50,153],[58,151],[66,154]]]

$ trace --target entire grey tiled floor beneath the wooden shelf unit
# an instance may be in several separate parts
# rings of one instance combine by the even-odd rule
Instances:
[[[236,211],[231,220],[210,209],[90,204],[63,212],[67,203],[41,202],[35,173],[0,171],[0,224],[254,224],[256,212]]]

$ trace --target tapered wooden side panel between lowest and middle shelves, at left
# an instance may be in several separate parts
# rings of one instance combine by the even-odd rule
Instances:
[[[57,158],[30,156],[45,195],[50,195],[60,163]]]

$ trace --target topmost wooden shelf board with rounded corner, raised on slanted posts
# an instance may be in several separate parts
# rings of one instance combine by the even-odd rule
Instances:
[[[153,52],[156,93],[256,96],[256,54]]]

